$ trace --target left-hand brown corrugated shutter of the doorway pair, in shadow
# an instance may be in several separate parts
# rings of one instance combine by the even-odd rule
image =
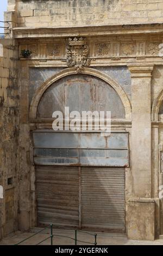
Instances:
[[[37,223],[60,228],[79,226],[78,167],[37,166]]]

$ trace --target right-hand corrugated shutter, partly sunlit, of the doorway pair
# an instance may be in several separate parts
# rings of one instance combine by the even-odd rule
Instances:
[[[82,167],[82,228],[125,232],[125,172],[122,168]]]

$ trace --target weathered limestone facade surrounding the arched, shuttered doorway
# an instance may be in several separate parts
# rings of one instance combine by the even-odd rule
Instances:
[[[89,25],[99,26],[99,31],[95,35],[97,38],[88,40],[90,42],[90,67],[114,78],[128,96],[132,107],[131,120],[129,116],[126,121],[122,120],[113,124],[115,130],[125,129],[129,131],[130,167],[126,169],[126,199],[131,200],[128,207],[126,206],[128,208],[128,227],[126,230],[128,230],[129,237],[133,239],[135,237],[154,239],[155,234],[161,233],[160,223],[163,223],[161,217],[163,210],[160,211],[158,186],[162,185],[159,176],[161,162],[159,144],[163,144],[163,129],[162,123],[157,123],[156,119],[151,125],[152,104],[162,88],[162,58],[158,56],[162,32],[159,30],[159,35],[154,31],[154,28],[161,29],[161,26],[144,26],[143,33],[140,29],[139,33],[142,34],[137,34],[135,37],[132,31],[127,31],[127,28],[135,28],[134,33],[136,33],[136,30],[143,26],[127,26],[124,36],[121,34],[122,31],[119,31],[117,32],[119,35],[112,39],[111,36],[102,39],[99,32],[105,33],[105,31],[101,31],[100,25],[162,23],[162,10],[163,0],[9,0],[5,20],[12,21],[9,22],[9,25],[13,28],[16,26],[32,28],[69,26],[70,28],[66,28],[63,34],[55,33],[54,29],[51,35],[49,35],[48,29],[29,29],[28,35],[26,35],[27,29],[17,29],[20,31],[17,32],[20,33],[19,38],[21,38],[21,33],[24,38],[28,38],[27,43],[26,39],[23,39],[22,42],[19,41],[20,52],[28,49],[33,53],[27,59],[22,58],[20,54],[19,72],[16,70],[16,46],[10,46],[11,51],[4,53],[6,57],[3,58],[3,64],[1,64],[3,77],[1,77],[2,86],[0,88],[0,96],[2,96],[0,182],[5,191],[4,199],[0,199],[2,235],[17,228],[17,219],[19,220],[18,227],[21,230],[27,230],[36,225],[36,180],[35,167],[32,164],[33,144],[30,135],[32,130],[51,129],[51,123],[48,121],[39,123],[39,121],[30,120],[29,104],[35,90],[45,82],[46,78],[49,78],[59,69],[65,68],[66,70],[67,56],[65,48],[62,47],[65,43],[63,38],[78,36],[80,28],[74,32],[75,26],[85,26],[84,35],[81,36],[89,37],[89,29],[91,28],[86,28]],[[124,26],[122,26],[123,28]],[[153,28],[150,35],[148,28],[151,30]],[[114,27],[112,30],[114,32]],[[8,29],[8,32],[12,38],[12,29]],[[47,39],[48,36],[49,39]],[[37,39],[32,40],[32,37],[39,38],[39,41]],[[52,37],[55,37],[54,41]],[[95,45],[93,46],[94,42]],[[57,45],[61,45],[59,51]],[[10,56],[11,52],[14,56]],[[5,60],[7,61],[6,64]],[[70,72],[70,69],[67,70]],[[16,75],[18,73],[19,91]],[[17,115],[19,106],[17,95],[20,97],[19,118]],[[18,163],[18,161],[20,162]],[[13,179],[10,179],[13,177],[15,177],[14,182],[16,184],[18,181],[18,194]],[[8,178],[9,183],[12,184],[7,185]],[[152,202],[148,200],[151,198]],[[162,203],[161,200],[160,203]],[[139,220],[140,212],[147,216],[147,220],[143,221],[145,224],[143,229]],[[133,227],[133,221],[135,227]]]

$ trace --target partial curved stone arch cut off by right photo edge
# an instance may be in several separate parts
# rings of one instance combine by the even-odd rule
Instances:
[[[152,121],[158,121],[159,120],[159,110],[163,102],[163,89],[161,89],[159,95],[156,97],[156,99],[153,102],[152,106]]]

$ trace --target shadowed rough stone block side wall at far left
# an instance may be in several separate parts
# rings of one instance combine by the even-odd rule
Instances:
[[[0,239],[17,229],[18,180],[18,86],[17,46],[13,40],[0,40]]]

